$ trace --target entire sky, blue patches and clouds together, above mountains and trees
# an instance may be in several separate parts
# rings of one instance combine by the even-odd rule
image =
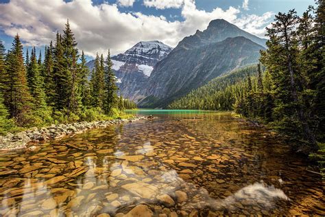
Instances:
[[[43,49],[69,19],[78,48],[89,58],[119,54],[139,41],[172,47],[184,36],[203,31],[210,20],[226,19],[263,37],[277,12],[302,14],[313,0],[0,0],[0,39],[9,49],[19,34],[26,47]]]

